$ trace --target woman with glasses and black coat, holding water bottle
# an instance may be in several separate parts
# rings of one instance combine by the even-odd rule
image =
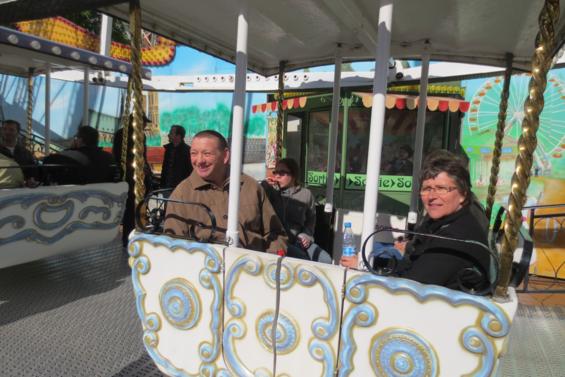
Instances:
[[[486,222],[473,208],[469,171],[457,156],[442,153],[426,161],[420,199],[426,214],[416,232],[488,244]],[[395,247],[404,255],[396,276],[451,289],[482,290],[489,284],[490,254],[476,243],[415,236],[409,242],[396,242]],[[357,256],[341,259],[346,267],[357,263]]]

